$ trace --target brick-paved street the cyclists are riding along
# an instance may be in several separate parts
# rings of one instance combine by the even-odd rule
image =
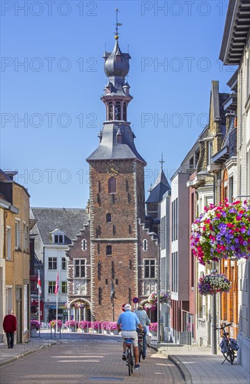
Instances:
[[[129,377],[122,361],[121,341],[120,337],[63,335],[57,344],[3,365],[1,384],[184,383],[175,364],[149,348],[140,369]],[[43,344],[47,345],[46,339]],[[38,340],[34,341],[34,349],[39,345]]]

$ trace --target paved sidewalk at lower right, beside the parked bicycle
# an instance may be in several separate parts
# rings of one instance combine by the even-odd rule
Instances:
[[[222,353],[212,355],[211,348],[197,346],[159,346],[159,352],[175,362],[188,384],[249,384],[250,374],[237,358],[231,365]]]

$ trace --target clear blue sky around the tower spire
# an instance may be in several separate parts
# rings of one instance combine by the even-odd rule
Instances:
[[[85,207],[89,198],[85,159],[105,119],[102,56],[115,43],[117,6],[146,189],[161,152],[169,178],[207,122],[211,81],[229,91],[235,68],[218,59],[227,4],[1,1],[1,168],[18,170],[32,206]]]

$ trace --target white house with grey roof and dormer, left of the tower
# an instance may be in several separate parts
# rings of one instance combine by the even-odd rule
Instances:
[[[43,305],[41,307],[44,311],[41,312],[41,320],[48,322],[56,317],[57,297],[54,290],[57,273],[59,275],[58,318],[68,320],[73,313],[68,311],[67,304],[68,260],[66,251],[83,228],[84,223],[87,223],[87,211],[86,209],[31,207],[31,217],[36,221],[31,231],[35,238],[36,260],[42,261],[43,294],[41,300],[44,300],[44,307]],[[35,276],[34,281],[37,282],[37,278],[38,275]]]

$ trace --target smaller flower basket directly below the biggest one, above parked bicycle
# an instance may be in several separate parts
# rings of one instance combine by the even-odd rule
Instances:
[[[232,283],[224,274],[205,274],[198,282],[199,293],[204,296],[228,292],[231,288]]]

